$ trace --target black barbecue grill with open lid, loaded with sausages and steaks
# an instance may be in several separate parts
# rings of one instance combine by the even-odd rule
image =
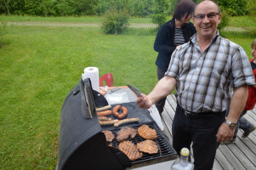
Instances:
[[[89,78],[80,79],[77,86],[65,98],[60,115],[60,144],[59,159],[56,169],[126,169],[127,167],[141,167],[146,161],[156,163],[174,159],[175,150],[168,142],[168,138],[156,126],[149,112],[137,107],[134,102],[124,103],[128,108],[128,116],[139,117],[139,122],[123,124],[120,127],[112,125],[100,126],[95,107],[108,105],[104,96],[94,91]],[[115,105],[111,105],[112,108]],[[114,117],[111,117],[114,118]],[[122,151],[117,149],[117,139],[108,146],[105,134],[101,131],[111,130],[117,137],[118,130],[123,126],[138,128],[147,124],[156,129],[157,154],[143,154],[142,158],[130,161]],[[144,139],[136,135],[131,139],[137,144]]]

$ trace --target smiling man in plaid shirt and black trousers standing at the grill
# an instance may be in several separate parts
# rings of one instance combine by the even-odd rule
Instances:
[[[217,3],[199,3],[193,16],[197,33],[174,51],[166,76],[152,92],[137,99],[140,108],[148,109],[176,87],[173,146],[179,153],[192,144],[195,170],[213,168],[219,142],[233,138],[247,101],[247,86],[255,84],[245,51],[219,36],[220,19]]]

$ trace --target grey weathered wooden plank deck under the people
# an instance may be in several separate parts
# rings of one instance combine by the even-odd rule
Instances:
[[[168,95],[162,112],[163,133],[168,136],[171,144],[173,144],[172,124],[176,105],[174,95]],[[255,108],[253,111],[247,111],[244,117],[256,125]],[[241,136],[242,130],[239,129],[235,144],[219,144],[213,170],[256,170],[256,132],[251,133],[246,139],[242,139]]]

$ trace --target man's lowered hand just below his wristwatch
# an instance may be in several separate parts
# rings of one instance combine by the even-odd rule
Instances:
[[[235,128],[232,129],[225,122],[219,127],[218,133],[216,134],[217,142],[230,141],[233,139]]]

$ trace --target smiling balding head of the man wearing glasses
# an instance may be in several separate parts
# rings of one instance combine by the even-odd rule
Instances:
[[[216,35],[221,18],[216,4],[211,1],[198,4],[195,9],[195,16],[193,16],[193,22],[197,36],[203,39],[212,39]]]

